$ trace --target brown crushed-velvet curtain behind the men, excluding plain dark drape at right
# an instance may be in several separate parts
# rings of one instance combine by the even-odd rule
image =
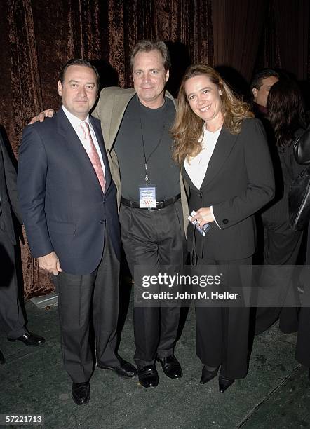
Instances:
[[[0,4],[0,38],[0,123],[18,156],[29,119],[43,107],[58,109],[58,74],[69,58],[96,61],[105,85],[130,86],[130,48],[162,39],[175,69],[168,88],[176,93],[181,69],[213,63],[212,0],[7,0]],[[27,240],[22,266],[26,297],[53,290]]]

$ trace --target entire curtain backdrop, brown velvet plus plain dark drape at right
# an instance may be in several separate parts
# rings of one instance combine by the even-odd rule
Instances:
[[[104,86],[128,87],[130,48],[141,39],[168,43],[174,95],[192,62],[225,64],[247,81],[255,62],[304,76],[308,22],[307,0],[1,1],[0,124],[18,156],[29,118],[58,109],[58,74],[69,58],[95,61]],[[27,240],[22,264],[26,297],[53,290]]]

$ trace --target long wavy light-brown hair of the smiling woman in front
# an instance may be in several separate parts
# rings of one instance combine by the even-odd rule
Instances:
[[[201,151],[200,139],[204,121],[191,110],[185,93],[186,81],[194,76],[201,75],[207,76],[221,90],[221,111],[224,126],[231,134],[238,134],[240,132],[241,123],[244,118],[252,118],[254,116],[250,111],[249,105],[236,97],[215,69],[204,64],[190,66],[185,71],[181,82],[177,114],[171,130],[173,139],[175,140],[173,158],[179,163],[182,163],[187,156],[196,156]]]

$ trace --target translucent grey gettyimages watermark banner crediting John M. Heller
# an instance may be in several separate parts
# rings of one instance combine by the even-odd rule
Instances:
[[[300,266],[135,266],[135,306],[310,306]],[[303,299],[301,299],[303,298]],[[163,304],[164,303],[164,304]]]

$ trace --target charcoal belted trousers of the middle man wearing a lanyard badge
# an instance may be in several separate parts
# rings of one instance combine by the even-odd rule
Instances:
[[[143,210],[121,205],[121,240],[131,274],[135,265],[182,265],[185,257],[180,200],[161,210]],[[139,285],[135,284],[135,287]],[[161,300],[160,307],[135,307],[135,362],[151,365],[156,356],[173,353],[179,326],[180,307]]]

